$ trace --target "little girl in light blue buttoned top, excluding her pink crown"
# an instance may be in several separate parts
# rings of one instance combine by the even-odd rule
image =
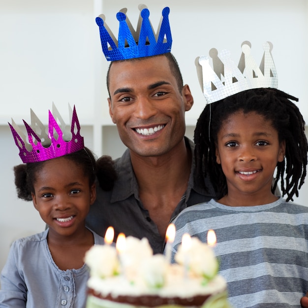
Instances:
[[[1,272],[0,307],[84,308],[89,277],[84,255],[104,242],[86,228],[85,219],[96,197],[96,173],[103,189],[113,186],[110,157],[95,164],[82,145],[59,157],[15,166],[14,173],[18,197],[33,201],[48,229],[12,244]]]

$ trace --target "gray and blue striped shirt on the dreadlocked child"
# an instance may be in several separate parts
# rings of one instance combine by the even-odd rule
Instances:
[[[174,220],[172,258],[184,233],[207,241],[213,229],[219,274],[234,308],[301,307],[308,291],[308,207],[282,198],[267,205],[226,206],[211,200]]]

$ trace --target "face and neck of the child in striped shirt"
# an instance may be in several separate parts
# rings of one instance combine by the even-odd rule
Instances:
[[[282,162],[285,142],[271,121],[256,112],[243,111],[223,121],[217,134],[216,162],[226,176],[226,205],[262,205],[275,201],[271,192],[277,162]]]

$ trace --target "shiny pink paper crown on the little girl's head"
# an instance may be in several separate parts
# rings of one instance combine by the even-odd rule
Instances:
[[[14,140],[20,152],[19,156],[23,163],[37,163],[60,157],[66,154],[77,152],[84,148],[84,138],[80,136],[80,124],[78,121],[76,108],[72,112],[69,107],[71,117],[70,132],[65,130],[65,123],[53,104],[53,114],[49,110],[48,135],[46,127],[31,110],[31,126],[25,120],[24,124],[28,133],[28,140],[12,119],[11,128]],[[57,123],[58,119],[62,129]],[[33,140],[34,137],[34,140]]]

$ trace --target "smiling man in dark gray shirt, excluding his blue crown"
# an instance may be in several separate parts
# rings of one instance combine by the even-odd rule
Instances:
[[[108,226],[148,238],[161,253],[167,226],[186,206],[214,197],[193,177],[193,143],[185,111],[193,98],[171,53],[112,62],[107,75],[109,112],[127,146],[115,161],[112,192],[97,188],[87,225],[104,236]]]

